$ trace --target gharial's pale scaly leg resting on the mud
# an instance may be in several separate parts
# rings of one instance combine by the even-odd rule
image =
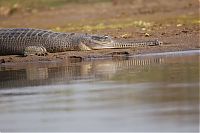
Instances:
[[[46,56],[47,50],[43,46],[28,46],[24,50],[24,56],[28,55]]]

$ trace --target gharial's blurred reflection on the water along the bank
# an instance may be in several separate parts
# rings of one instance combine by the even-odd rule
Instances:
[[[164,63],[163,58],[134,58],[129,60],[104,60],[74,64],[40,64],[26,68],[9,66],[0,71],[0,88],[12,88],[32,85],[69,83],[80,79],[110,79],[120,70],[132,69],[143,71],[154,64]],[[61,66],[59,66],[61,65]],[[5,78],[8,77],[8,78]]]

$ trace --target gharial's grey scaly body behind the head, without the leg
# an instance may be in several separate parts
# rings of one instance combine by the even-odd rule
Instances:
[[[77,50],[78,42],[75,38],[81,36],[30,28],[0,29],[0,55],[23,54],[28,46],[44,46],[48,52]]]

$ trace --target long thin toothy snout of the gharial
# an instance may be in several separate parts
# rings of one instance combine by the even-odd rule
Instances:
[[[158,40],[152,41],[114,41],[113,45],[115,48],[133,48],[138,46],[157,46],[161,45],[162,42]]]

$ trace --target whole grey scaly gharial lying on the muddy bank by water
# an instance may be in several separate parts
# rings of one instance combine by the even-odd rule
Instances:
[[[0,55],[45,55],[47,52],[156,46],[162,42],[121,41],[107,35],[62,33],[32,28],[0,29]]]

